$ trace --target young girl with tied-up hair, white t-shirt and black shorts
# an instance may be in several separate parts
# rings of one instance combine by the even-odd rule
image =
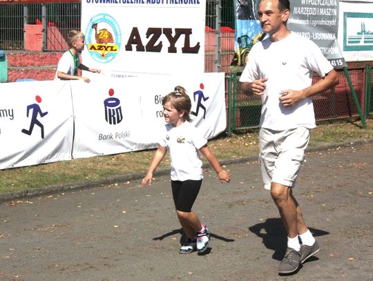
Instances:
[[[166,121],[164,134],[157,151],[151,160],[148,173],[142,180],[142,186],[151,184],[153,172],[160,164],[166,152],[171,157],[171,188],[178,219],[187,235],[187,241],[179,253],[191,253],[197,249],[204,253],[209,246],[209,229],[200,222],[198,215],[191,211],[193,203],[202,184],[202,161],[200,153],[206,157],[218,174],[220,182],[229,182],[227,171],[220,166],[218,159],[211,153],[205,139],[190,123],[189,113],[191,99],[181,86],[166,95],[162,101],[163,114]]]

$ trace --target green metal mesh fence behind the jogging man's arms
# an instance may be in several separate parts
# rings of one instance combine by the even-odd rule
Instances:
[[[312,97],[316,122],[333,119],[360,119],[372,112],[372,66],[350,67],[337,70],[339,84]],[[227,75],[227,133],[236,130],[258,128],[261,99],[247,96],[240,90],[240,73]],[[318,81],[316,76],[313,82]]]

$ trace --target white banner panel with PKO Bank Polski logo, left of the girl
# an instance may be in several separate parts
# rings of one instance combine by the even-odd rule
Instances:
[[[149,146],[137,144],[142,126],[141,95],[136,79],[126,84],[72,83],[75,113],[75,158],[137,151]]]

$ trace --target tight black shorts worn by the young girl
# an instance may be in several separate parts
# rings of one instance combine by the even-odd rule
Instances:
[[[173,202],[178,211],[191,211],[191,207],[200,192],[202,180],[186,180],[180,182],[178,180],[171,180]]]

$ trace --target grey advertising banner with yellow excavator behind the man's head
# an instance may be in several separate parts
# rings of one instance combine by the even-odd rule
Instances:
[[[236,0],[236,42],[231,66],[245,66],[249,52],[265,34],[258,21],[259,0]],[[346,66],[339,48],[338,1],[294,0],[290,2],[289,30],[314,41],[334,68]]]

